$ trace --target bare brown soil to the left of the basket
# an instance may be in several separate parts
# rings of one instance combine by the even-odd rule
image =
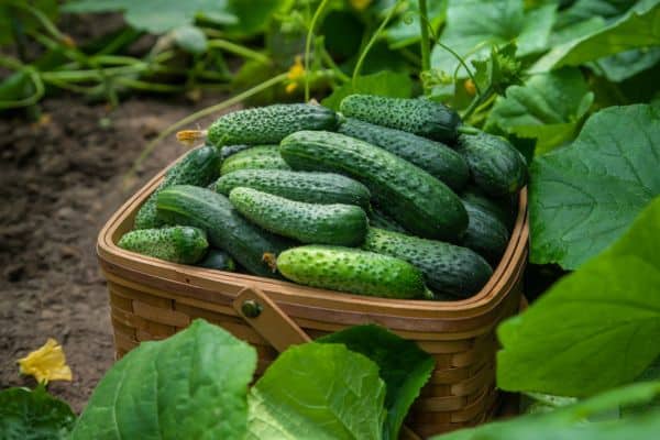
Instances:
[[[38,123],[0,119],[0,389],[34,386],[16,360],[54,338],[73,382],[50,391],[80,411],[113,362],[97,233],[156,172],[186,151],[162,142],[131,185],[124,176],[150,139],[210,102],[134,99],[110,110],[51,99]]]

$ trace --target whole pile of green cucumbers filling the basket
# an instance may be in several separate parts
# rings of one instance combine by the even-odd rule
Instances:
[[[360,295],[466,298],[502,257],[526,170],[508,141],[426,99],[241,110],[168,170],[119,245]]]

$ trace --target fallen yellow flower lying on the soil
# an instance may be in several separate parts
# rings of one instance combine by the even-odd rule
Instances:
[[[64,350],[52,338],[41,349],[19,359],[19,365],[21,374],[30,374],[40,383],[72,380],[72,369],[66,364]]]

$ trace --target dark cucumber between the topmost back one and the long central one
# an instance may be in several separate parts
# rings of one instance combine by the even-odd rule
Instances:
[[[346,118],[341,122],[338,132],[387,150],[444,182],[452,189],[463,188],[470,178],[463,157],[443,143],[354,118]]]

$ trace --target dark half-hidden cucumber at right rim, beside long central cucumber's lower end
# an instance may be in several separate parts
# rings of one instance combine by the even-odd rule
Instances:
[[[460,244],[479,253],[491,263],[497,263],[506,245],[509,232],[499,219],[480,205],[463,200],[470,221]]]

